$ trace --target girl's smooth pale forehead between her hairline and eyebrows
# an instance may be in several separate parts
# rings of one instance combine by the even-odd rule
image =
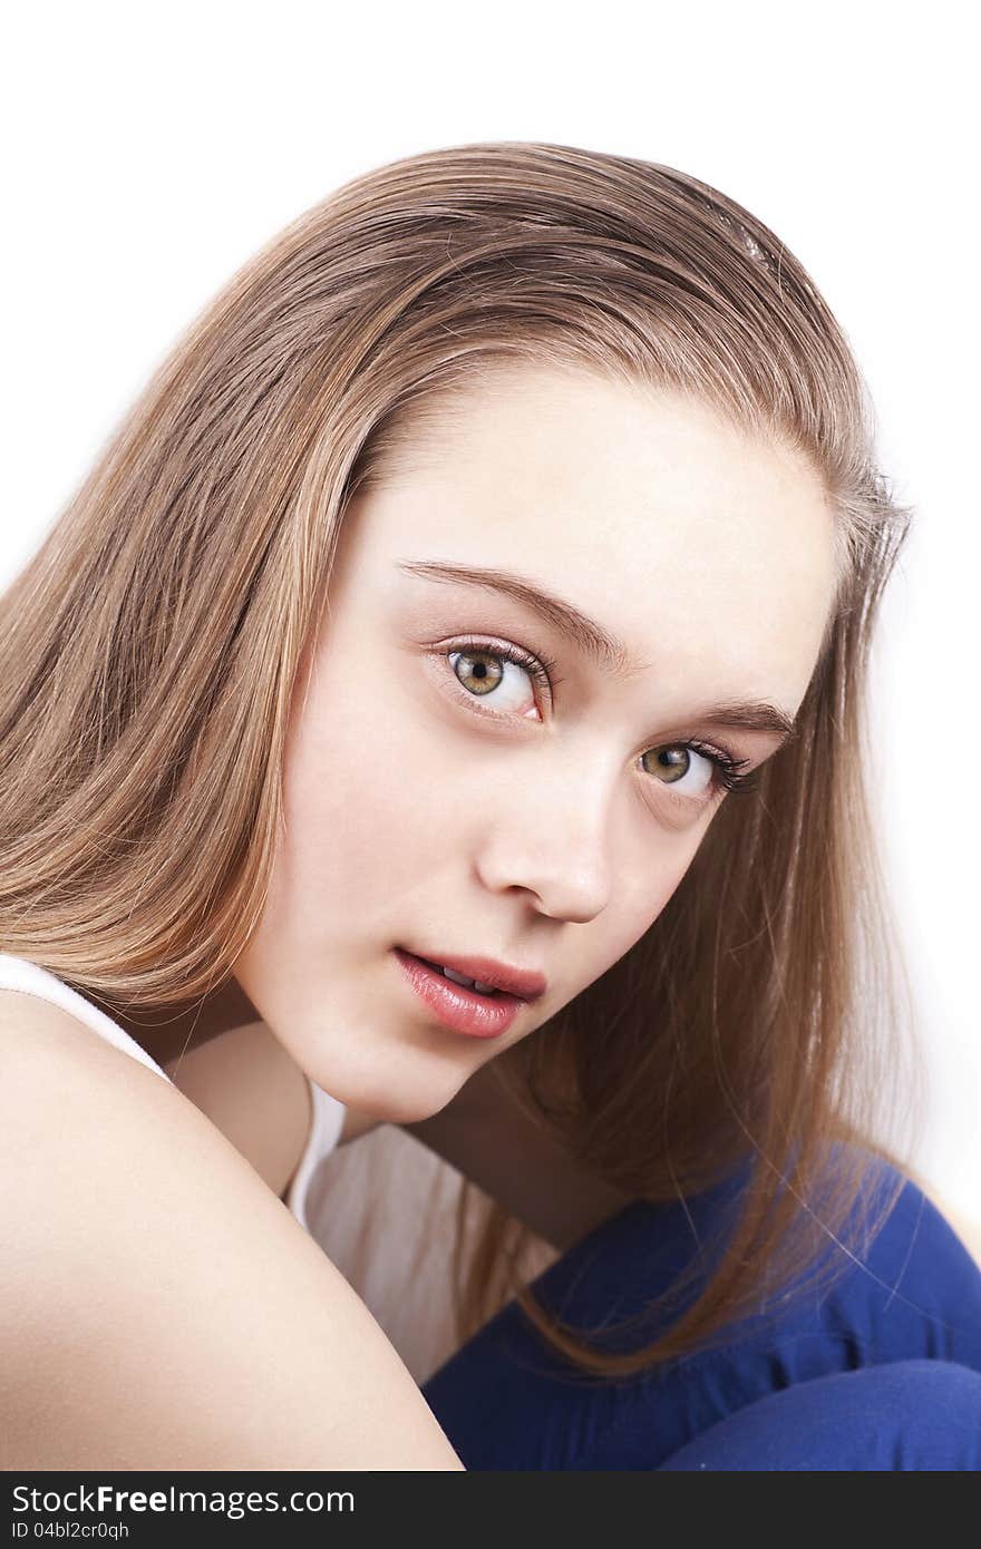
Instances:
[[[431,431],[431,428],[429,428]],[[358,573],[477,601],[432,572],[490,568],[617,635],[642,663],[800,702],[831,606],[834,517],[798,452],[646,389],[524,376],[457,403],[453,429],[352,505]],[[513,593],[501,592],[513,617]],[[736,683],[728,680],[736,678]]]

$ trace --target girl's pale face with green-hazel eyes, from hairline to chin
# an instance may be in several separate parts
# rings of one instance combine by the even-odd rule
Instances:
[[[800,455],[584,370],[501,372],[360,491],[298,680],[265,912],[236,963],[315,1081],[378,1118],[426,1118],[637,942],[733,799],[705,750],[752,770],[780,747],[711,706],[797,714],[832,534]],[[564,599],[626,666],[453,567]],[[468,1036],[397,946],[547,988],[504,1033]]]

